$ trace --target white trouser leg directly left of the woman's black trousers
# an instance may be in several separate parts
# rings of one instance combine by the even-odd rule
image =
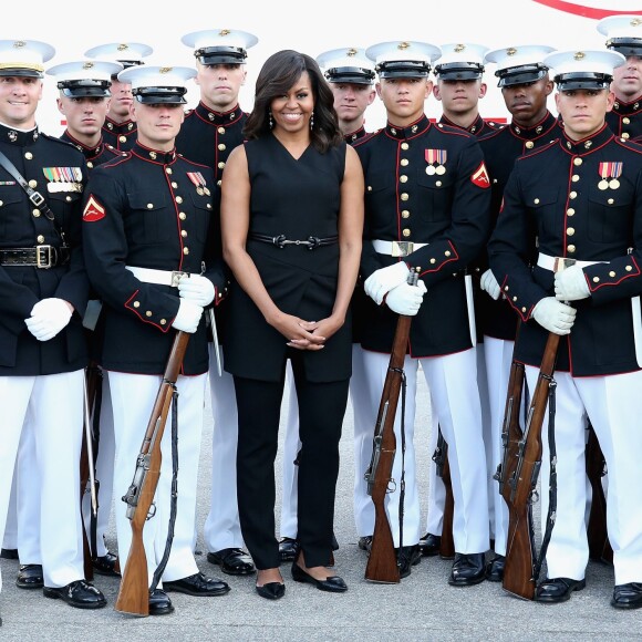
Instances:
[[[221,367],[224,353],[220,352]],[[238,413],[234,377],[222,371],[218,376],[216,355],[209,344],[209,393],[214,432],[211,435],[211,491],[204,536],[208,551],[242,548],[238,501],[236,496],[236,446]]]

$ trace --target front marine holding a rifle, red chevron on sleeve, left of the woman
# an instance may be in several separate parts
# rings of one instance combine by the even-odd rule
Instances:
[[[165,590],[219,596],[227,583],[198,571],[194,522],[203,406],[207,377],[204,307],[222,297],[225,283],[214,208],[211,169],[176,153],[188,68],[131,68],[120,74],[132,84],[138,141],[124,157],[94,168],[84,199],[83,236],[92,284],[104,306],[100,363],[107,372],[114,415],[114,494],[122,497],[135,469],[152,407],[174,341],[190,332],[178,390],[178,504],[174,539],[149,597],[151,614],[172,612]],[[156,122],[169,128],[157,133]],[[145,128],[143,128],[145,127]],[[173,134],[173,135],[172,135]],[[156,136],[156,137],[155,137]],[[163,466],[156,514],[144,530],[149,580],[166,546],[170,511],[170,432],[163,436]],[[127,559],[131,526],[126,506],[115,506],[118,553]]]

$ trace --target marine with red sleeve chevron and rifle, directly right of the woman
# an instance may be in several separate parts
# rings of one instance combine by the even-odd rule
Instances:
[[[376,63],[377,93],[387,96],[389,122],[355,145],[366,187],[361,273],[365,292],[372,298],[364,312],[361,343],[367,351],[373,398],[380,398],[397,321],[391,301],[398,300],[395,290],[398,292],[405,283],[408,268],[418,268],[428,293],[418,312],[415,310],[411,325],[406,379],[408,390],[414,391],[421,361],[451,449],[457,556],[449,582],[468,586],[484,579],[488,508],[476,356],[464,276],[489,234],[490,184],[475,138],[460,130],[432,124],[423,112],[423,101],[432,89],[431,64],[439,56],[439,49],[426,43],[387,42],[369,48],[367,54]],[[417,97],[418,107],[406,115],[411,111],[406,105]],[[393,469],[394,478],[402,479],[405,468],[403,540],[401,484],[387,503],[395,546],[401,548],[402,576],[408,574],[420,559],[414,414],[411,392],[406,397],[405,455],[396,457]],[[403,443],[400,420],[395,422],[397,444]]]

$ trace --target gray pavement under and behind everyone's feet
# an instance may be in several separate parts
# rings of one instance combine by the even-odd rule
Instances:
[[[428,395],[423,383],[417,392],[420,412],[415,441],[425,512],[429,462]],[[287,400],[284,400],[287,402]],[[284,406],[287,407],[287,406]],[[199,540],[209,496],[209,462],[213,421],[209,408],[204,431],[199,486]],[[282,434],[281,434],[282,437]],[[118,582],[96,578],[108,604],[99,611],[72,609],[48,600],[41,591],[15,588],[18,562],[1,560],[4,587],[0,594],[3,627],[1,640],[28,641],[392,641],[392,640],[642,640],[642,610],[620,612],[609,605],[612,568],[590,563],[587,588],[558,605],[525,602],[508,596],[496,583],[470,588],[447,584],[449,561],[423,558],[401,584],[373,584],[363,579],[365,553],[356,546],[352,516],[352,408],[349,406],[341,443],[335,531],[340,549],[336,570],[349,584],[345,594],[329,594],[291,580],[283,568],[287,594],[271,602],[253,590],[253,577],[221,576],[218,567],[197,558],[200,569],[224,577],[231,591],[221,598],[193,598],[172,593],[175,613],[162,618],[132,618],[114,611]],[[133,465],[133,464],[132,464]],[[280,485],[280,458],[277,468]],[[280,501],[279,501],[280,506]],[[536,509],[537,514],[538,510]],[[424,515],[425,519],[425,515]],[[278,524],[278,521],[277,521]],[[115,548],[112,527],[110,543]]]

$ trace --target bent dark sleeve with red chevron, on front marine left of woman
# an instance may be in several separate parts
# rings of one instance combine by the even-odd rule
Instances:
[[[144,283],[125,269],[128,200],[124,186],[108,168],[92,173],[85,196],[83,241],[86,269],[101,298],[123,314],[134,315],[162,332],[172,327],[179,308],[178,291]]]

